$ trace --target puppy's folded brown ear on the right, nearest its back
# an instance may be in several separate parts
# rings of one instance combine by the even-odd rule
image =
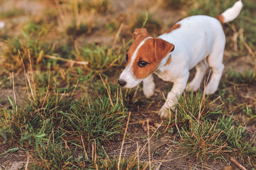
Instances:
[[[157,62],[160,62],[163,58],[165,58],[169,52],[174,50],[174,45],[169,43],[161,38],[154,38],[155,41],[155,58]]]

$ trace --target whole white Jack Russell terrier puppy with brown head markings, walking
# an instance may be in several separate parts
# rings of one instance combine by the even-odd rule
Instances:
[[[213,74],[205,93],[213,94],[218,89],[224,69],[222,62],[226,38],[221,23],[238,17],[242,7],[240,0],[216,18],[184,18],[158,38],[152,38],[145,28],[136,28],[133,44],[126,54],[126,68],[121,73],[118,84],[133,88],[143,81],[143,93],[146,98],[150,98],[155,90],[152,73],[164,81],[174,82],[172,91],[168,93],[165,104],[158,113],[161,118],[168,115],[167,109],[174,109],[177,98],[184,89],[199,89],[208,65]],[[189,69],[193,67],[196,67],[196,75],[187,85]]]

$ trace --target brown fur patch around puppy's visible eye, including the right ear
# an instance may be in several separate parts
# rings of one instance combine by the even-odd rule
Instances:
[[[133,62],[133,74],[136,79],[145,79],[155,72],[163,58],[174,50],[174,45],[160,38],[150,38],[138,50]],[[140,67],[140,62],[148,63]]]

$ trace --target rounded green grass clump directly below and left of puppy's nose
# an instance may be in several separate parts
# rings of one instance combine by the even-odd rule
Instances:
[[[103,145],[108,140],[113,140],[113,135],[120,132],[124,113],[126,109],[123,109],[120,101],[111,106],[106,96],[94,100],[84,99],[73,103],[68,113],[61,112],[64,118],[69,120],[63,129],[79,132],[79,135],[87,138],[87,145],[94,140]]]

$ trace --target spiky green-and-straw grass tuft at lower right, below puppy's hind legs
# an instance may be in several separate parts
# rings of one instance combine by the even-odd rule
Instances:
[[[187,154],[194,155],[197,159],[220,157],[226,147],[225,140],[218,139],[220,135],[221,131],[216,130],[216,123],[211,121],[196,123],[193,121],[189,128],[181,128],[180,137],[182,140],[178,144]]]

